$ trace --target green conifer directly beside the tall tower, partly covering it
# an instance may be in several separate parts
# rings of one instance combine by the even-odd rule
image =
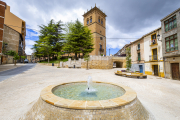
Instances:
[[[77,55],[83,53],[90,53],[93,48],[93,37],[88,27],[83,26],[82,23],[76,20],[75,23],[68,23],[68,30],[66,30],[66,44],[64,50],[68,53]]]

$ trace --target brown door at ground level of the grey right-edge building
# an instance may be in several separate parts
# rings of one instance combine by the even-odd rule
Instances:
[[[175,79],[175,80],[180,79],[179,63],[172,63],[171,64],[171,70],[172,70],[172,78]]]

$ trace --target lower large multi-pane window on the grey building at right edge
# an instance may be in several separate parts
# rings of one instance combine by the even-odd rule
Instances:
[[[177,34],[165,38],[166,52],[178,50]]]

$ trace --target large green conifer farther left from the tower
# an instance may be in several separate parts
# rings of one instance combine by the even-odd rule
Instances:
[[[48,62],[50,56],[54,57],[54,54],[62,50],[64,34],[63,34],[63,24],[61,21],[55,23],[51,20],[48,25],[41,25],[39,40],[36,41],[33,48],[34,55],[36,57],[48,57]]]

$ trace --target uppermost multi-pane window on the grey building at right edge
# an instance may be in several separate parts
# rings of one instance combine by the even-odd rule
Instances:
[[[166,20],[164,22],[164,25],[165,25],[165,32],[167,32],[173,28],[176,28],[177,27],[176,15],[173,16],[172,18]]]

